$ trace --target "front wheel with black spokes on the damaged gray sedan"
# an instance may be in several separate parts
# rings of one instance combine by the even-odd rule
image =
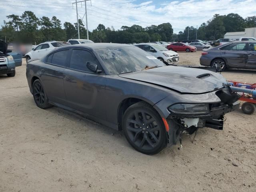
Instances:
[[[135,103],[125,111],[122,128],[129,144],[141,153],[157,154],[167,145],[162,119],[146,102]]]

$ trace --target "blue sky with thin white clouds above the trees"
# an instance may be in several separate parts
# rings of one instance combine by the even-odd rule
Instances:
[[[38,18],[57,16],[62,24],[74,23],[76,9],[72,2],[75,0],[0,0],[0,25],[6,15],[21,15],[25,10],[34,12]],[[99,23],[117,30],[123,25],[146,27],[170,22],[178,33],[186,26],[200,26],[214,14],[233,12],[244,18],[256,15],[256,0],[91,0],[87,5],[89,30]],[[84,3],[78,4],[78,13],[81,18],[84,16]]]

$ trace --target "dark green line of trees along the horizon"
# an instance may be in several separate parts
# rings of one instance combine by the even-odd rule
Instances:
[[[0,39],[7,42],[35,43],[49,40],[67,41],[78,38],[77,23],[64,22],[53,16],[48,18],[36,17],[31,11],[25,11],[21,16],[11,14],[6,16],[4,25],[0,28]],[[86,39],[86,28],[82,20],[78,20],[80,38]],[[244,28],[256,27],[256,16],[242,18],[238,14],[219,15],[215,14],[212,19],[202,23],[197,30],[197,39],[216,40],[223,38],[226,32],[243,31]],[[122,26],[120,30],[114,27],[105,27],[99,24],[98,27],[89,32],[90,40],[94,42],[113,43],[140,43],[153,41],[178,41],[187,39],[189,28],[189,39],[196,38],[196,28],[187,26],[184,31],[173,34],[172,25],[163,23],[143,28],[139,25]]]

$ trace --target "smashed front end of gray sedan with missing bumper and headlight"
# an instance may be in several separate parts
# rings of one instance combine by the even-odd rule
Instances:
[[[232,92],[229,86],[214,92],[219,102],[214,103],[175,103],[168,107],[170,115],[167,122],[170,125],[168,141],[176,144],[181,134],[193,134],[198,128],[214,128],[223,130],[224,114],[240,107],[238,94]]]

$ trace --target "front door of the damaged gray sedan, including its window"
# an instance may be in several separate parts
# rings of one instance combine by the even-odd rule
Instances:
[[[86,63],[92,62],[102,70],[94,54],[87,49],[73,49],[70,64],[64,72],[64,88],[70,108],[106,120],[104,72],[90,71]]]

